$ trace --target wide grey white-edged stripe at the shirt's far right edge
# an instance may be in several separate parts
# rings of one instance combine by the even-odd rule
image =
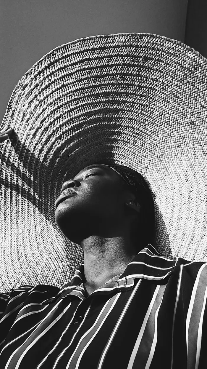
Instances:
[[[206,268],[205,268],[206,267]],[[205,268],[205,270],[204,270]],[[207,287],[207,264],[201,266],[192,291],[189,309],[186,320],[186,342],[187,342],[187,368],[195,369],[198,354],[200,355],[198,334],[199,326],[202,331],[203,316],[201,315],[203,307],[206,303],[206,287]]]

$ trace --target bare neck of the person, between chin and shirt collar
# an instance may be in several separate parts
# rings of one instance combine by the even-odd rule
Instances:
[[[91,236],[81,246],[84,251],[84,287],[88,294],[112,277],[122,274],[137,250],[126,237]]]

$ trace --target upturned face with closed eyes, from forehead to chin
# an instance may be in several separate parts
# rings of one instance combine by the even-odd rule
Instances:
[[[122,178],[104,164],[89,165],[63,183],[55,220],[72,242],[91,235],[115,237],[125,220]]]

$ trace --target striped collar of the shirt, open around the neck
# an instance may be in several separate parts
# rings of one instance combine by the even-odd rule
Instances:
[[[136,278],[162,280],[172,273],[174,266],[175,260],[161,255],[154,246],[148,244],[130,261],[121,275],[113,277],[92,294],[110,294],[114,290],[117,292],[131,290]],[[71,281],[66,283],[56,296],[43,301],[43,303],[54,302],[58,297],[64,298],[70,294],[79,297],[81,300],[85,299],[83,264],[76,270]]]

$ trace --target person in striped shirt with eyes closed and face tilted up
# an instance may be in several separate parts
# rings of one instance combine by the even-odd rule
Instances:
[[[0,294],[1,368],[206,368],[207,263],[154,248],[144,178],[95,163],[62,184],[55,206],[84,263],[62,289]]]

